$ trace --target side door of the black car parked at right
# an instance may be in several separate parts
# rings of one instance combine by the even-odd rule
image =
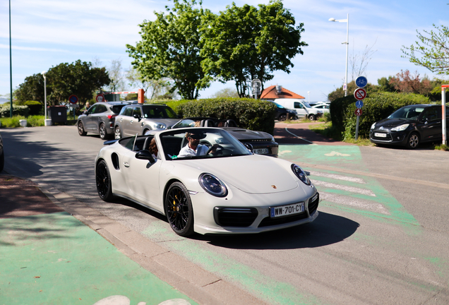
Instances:
[[[421,140],[438,140],[443,136],[441,121],[441,107],[428,107],[419,116],[419,126],[421,126]]]

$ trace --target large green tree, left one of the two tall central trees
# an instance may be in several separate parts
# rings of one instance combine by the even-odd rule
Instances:
[[[196,0],[173,0],[167,13],[157,13],[155,21],[140,24],[142,40],[136,47],[126,44],[133,66],[147,80],[169,78],[170,90],[178,90],[186,100],[197,99],[198,91],[208,88],[210,77],[201,68],[200,33],[203,8],[195,8]],[[199,2],[201,5],[201,1]]]

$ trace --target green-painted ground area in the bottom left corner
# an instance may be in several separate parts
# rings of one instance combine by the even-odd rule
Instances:
[[[196,304],[68,213],[1,219],[0,232],[0,304]]]

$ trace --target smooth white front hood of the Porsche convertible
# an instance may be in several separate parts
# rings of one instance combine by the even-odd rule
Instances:
[[[249,155],[186,162],[246,193],[280,193],[298,187],[291,169],[273,157]]]

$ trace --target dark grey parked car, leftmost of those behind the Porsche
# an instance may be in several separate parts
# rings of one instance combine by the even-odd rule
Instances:
[[[100,134],[103,140],[114,134],[115,117],[128,102],[97,102],[85,114],[78,116],[76,126],[80,136]]]

